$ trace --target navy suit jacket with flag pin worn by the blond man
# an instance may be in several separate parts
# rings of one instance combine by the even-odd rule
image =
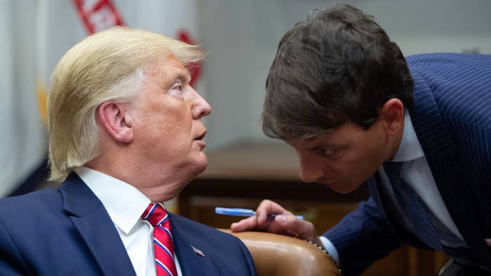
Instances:
[[[238,238],[175,214],[170,221],[184,275],[255,275]],[[58,189],[0,200],[0,275],[134,276],[135,270],[102,202],[72,173]]]

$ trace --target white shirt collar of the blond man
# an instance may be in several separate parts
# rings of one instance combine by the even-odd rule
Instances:
[[[113,223],[128,235],[151,202],[149,198],[130,184],[88,167],[77,167],[75,172],[102,202]]]

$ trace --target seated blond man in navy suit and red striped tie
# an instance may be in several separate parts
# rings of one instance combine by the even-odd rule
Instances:
[[[70,49],[48,98],[49,188],[0,200],[0,275],[255,275],[236,237],[164,202],[206,169],[204,57],[116,27]]]

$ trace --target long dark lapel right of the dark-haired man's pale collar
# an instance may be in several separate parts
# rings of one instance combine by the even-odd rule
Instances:
[[[438,191],[459,232],[476,257],[486,263],[488,255],[478,226],[469,177],[459,165],[457,145],[438,109],[436,99],[419,74],[415,79],[415,103],[409,107],[412,124],[428,161]],[[463,208],[465,206],[465,208]],[[489,258],[489,257],[487,257]]]

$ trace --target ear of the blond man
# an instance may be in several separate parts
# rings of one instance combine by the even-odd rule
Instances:
[[[133,142],[133,120],[125,109],[125,104],[119,102],[103,102],[97,109],[100,125],[104,127],[109,137],[121,143]]]

